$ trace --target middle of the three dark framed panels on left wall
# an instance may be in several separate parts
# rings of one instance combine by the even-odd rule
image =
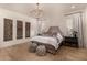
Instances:
[[[23,22],[20,20],[17,20],[17,39],[23,37]]]

